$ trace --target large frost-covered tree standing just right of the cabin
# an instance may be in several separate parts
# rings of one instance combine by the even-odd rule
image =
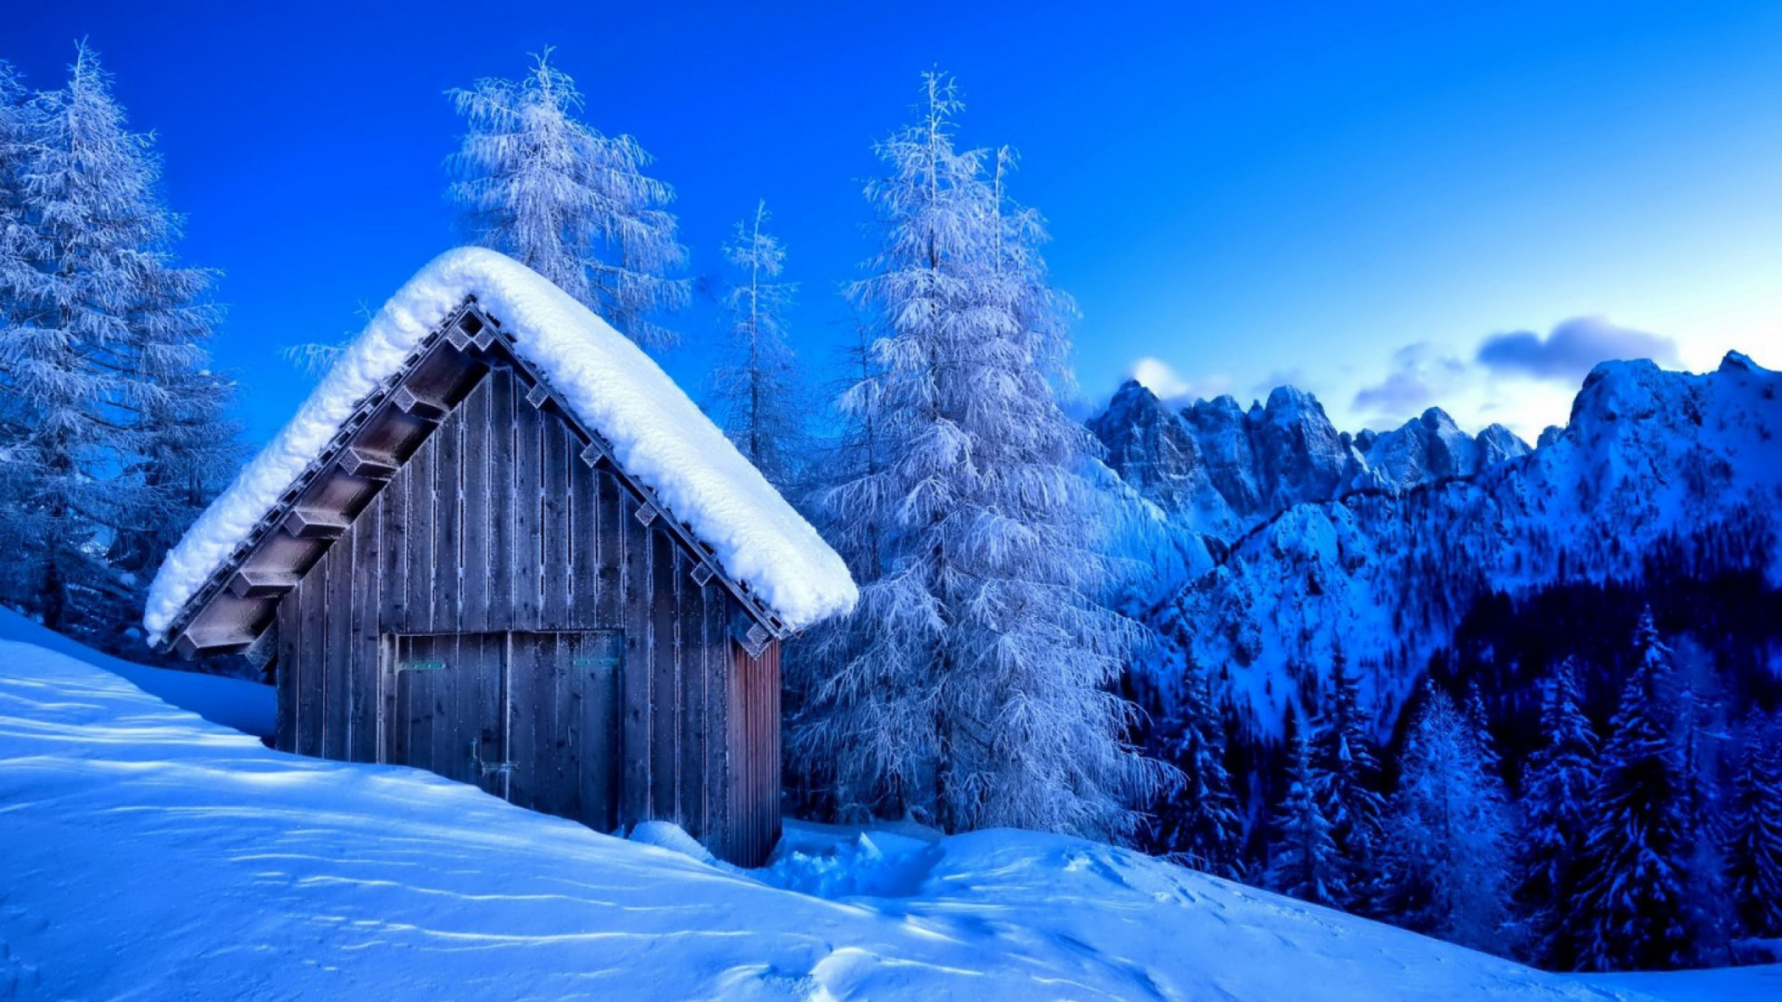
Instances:
[[[1069,303],[1037,216],[955,150],[959,107],[927,75],[868,187],[884,242],[852,294],[882,373],[843,405],[871,410],[884,465],[823,501],[882,533],[884,567],[836,631],[804,747],[836,763],[843,809],[1126,836],[1155,772],[1108,690],[1137,628],[1098,601],[1091,442],[1057,401]]]

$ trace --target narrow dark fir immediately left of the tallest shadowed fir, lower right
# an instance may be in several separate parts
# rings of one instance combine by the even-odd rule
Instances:
[[[1577,893],[1590,792],[1595,784],[1597,735],[1579,708],[1577,665],[1566,660],[1541,702],[1545,743],[1529,756],[1522,792],[1522,838],[1516,854],[1516,900],[1529,916],[1536,963],[1552,970],[1575,966],[1566,934]]]

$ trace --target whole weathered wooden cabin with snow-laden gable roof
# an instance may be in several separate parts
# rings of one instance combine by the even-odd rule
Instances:
[[[433,323],[380,317],[401,335],[367,332],[378,349],[340,362],[360,371],[324,380],[194,526],[150,629],[187,656],[266,663],[282,751],[426,768],[604,833],[672,820],[756,865],[781,825],[782,644],[813,608],[852,604],[852,581],[834,583],[839,558],[629,341],[515,262],[454,255],[472,278],[412,285],[462,296]],[[504,292],[479,296],[478,278]],[[549,324],[570,330],[545,339]],[[602,410],[620,390],[631,403]],[[677,456],[704,464],[688,483],[665,467]],[[761,526],[768,553],[750,553]],[[768,567],[782,544],[827,592]],[[782,610],[763,585],[805,595]]]

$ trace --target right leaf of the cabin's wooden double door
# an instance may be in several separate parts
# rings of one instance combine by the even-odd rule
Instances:
[[[513,633],[510,651],[511,801],[613,831],[624,635]]]

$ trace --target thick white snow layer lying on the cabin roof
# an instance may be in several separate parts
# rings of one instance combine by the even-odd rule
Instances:
[[[143,622],[159,644],[212,595],[219,576],[287,505],[310,467],[342,442],[365,401],[388,394],[415,353],[467,301],[597,435],[599,448],[690,530],[716,571],[788,629],[854,608],[841,558],[699,407],[627,337],[529,267],[481,248],[435,259],[403,285],[330,369],[290,424],[249,462],[169,553]],[[745,603],[748,604],[748,603]],[[756,610],[752,610],[756,612]]]

